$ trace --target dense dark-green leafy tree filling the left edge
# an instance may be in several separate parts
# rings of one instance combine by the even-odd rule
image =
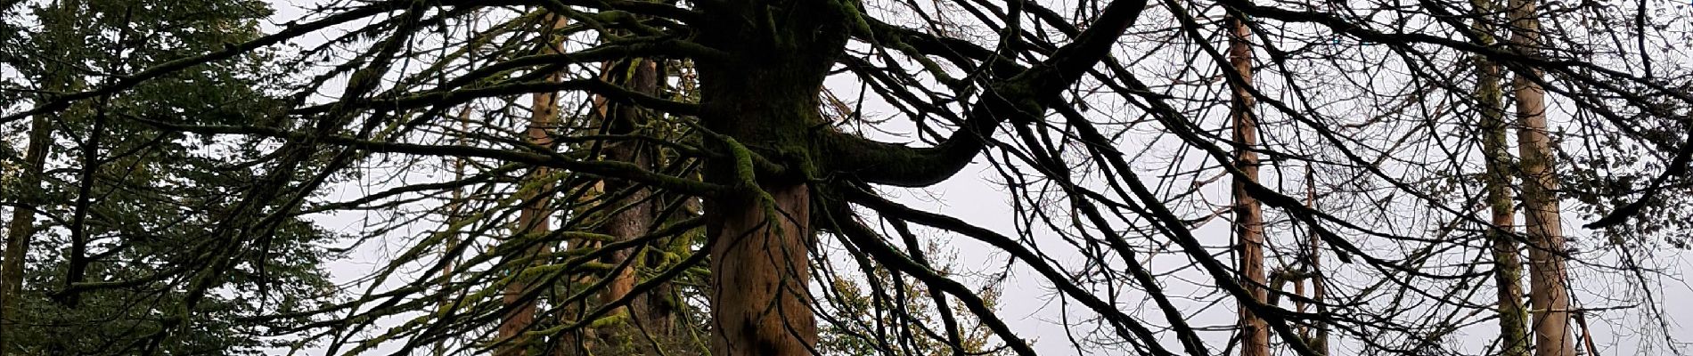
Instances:
[[[251,40],[254,20],[269,15],[256,2],[25,5],[32,17],[7,12],[0,22],[25,29],[17,40],[39,51],[7,57],[0,88],[32,93],[30,103],[107,83],[90,73],[135,71]],[[15,209],[0,353],[254,354],[291,341],[267,329],[306,322],[281,314],[327,300],[330,283],[318,263],[330,255],[318,245],[334,235],[284,218],[269,221],[261,240],[244,241],[247,248],[210,246],[208,236],[222,233],[210,213],[249,189],[254,177],[240,162],[257,155],[154,125],[267,115],[281,101],[261,84],[278,78],[267,64],[266,52],[251,52],[32,116],[25,157],[5,157],[22,172],[8,169],[0,187],[24,192],[3,196]],[[195,273],[207,258],[239,265],[215,277]]]

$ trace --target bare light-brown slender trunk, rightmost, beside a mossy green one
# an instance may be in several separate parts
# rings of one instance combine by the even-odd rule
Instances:
[[[1537,56],[1541,22],[1536,0],[1512,0],[1512,46]],[[1522,155],[1522,216],[1529,236],[1529,305],[1534,317],[1536,356],[1574,356],[1569,336],[1569,290],[1564,285],[1564,235],[1558,208],[1558,177],[1552,143],[1546,132],[1546,89],[1539,71],[1519,71],[1512,81],[1517,98],[1517,145]]]

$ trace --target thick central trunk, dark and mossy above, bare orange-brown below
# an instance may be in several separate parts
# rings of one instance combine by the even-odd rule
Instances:
[[[831,2],[706,2],[699,42],[725,61],[699,61],[701,120],[723,135],[706,179],[731,194],[708,197],[711,354],[801,356],[818,341],[808,272],[813,137],[828,123],[818,93],[846,44],[845,8]],[[764,19],[752,20],[747,19]],[[750,150],[748,150],[750,148]],[[782,164],[753,174],[747,155]],[[762,192],[760,192],[762,191]],[[770,214],[774,213],[774,214]]]

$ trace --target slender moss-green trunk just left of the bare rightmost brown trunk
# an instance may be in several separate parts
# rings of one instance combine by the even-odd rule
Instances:
[[[1495,27],[1492,0],[1471,0],[1471,7],[1480,19],[1471,25],[1481,34],[1481,46],[1493,46]],[[1498,302],[1498,341],[1500,356],[1529,356],[1527,314],[1522,307],[1522,246],[1517,245],[1512,229],[1515,228],[1515,202],[1512,199],[1510,150],[1505,143],[1505,91],[1500,67],[1486,57],[1476,56],[1476,111],[1481,115],[1481,157],[1486,160],[1483,182],[1486,186],[1486,202],[1492,213],[1492,226],[1486,240],[1493,245],[1493,283]]]

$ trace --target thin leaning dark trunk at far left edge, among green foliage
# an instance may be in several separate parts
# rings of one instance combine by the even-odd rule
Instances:
[[[19,204],[12,208],[12,219],[5,229],[5,260],[0,262],[0,354],[12,349],[17,310],[24,295],[24,258],[29,256],[29,240],[36,235],[36,201],[41,201],[41,174],[47,162],[47,147],[52,145],[52,128],[46,115],[36,115],[29,121],[29,147],[24,148],[24,172],[19,175]]]

